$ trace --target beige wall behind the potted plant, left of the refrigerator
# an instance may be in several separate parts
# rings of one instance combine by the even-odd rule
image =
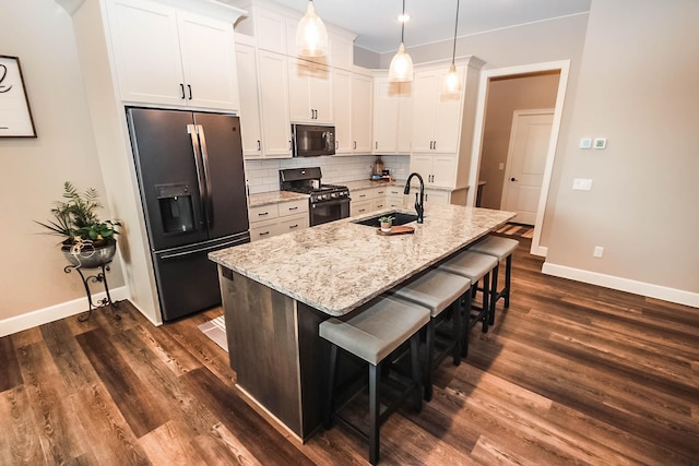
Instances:
[[[62,183],[96,188],[107,202],[96,157],[70,16],[54,0],[5,1],[0,14],[4,55],[20,57],[37,139],[0,139],[0,321],[85,299],[76,274],[63,273],[58,238],[36,235]],[[104,217],[109,217],[105,211]],[[115,261],[112,288],[123,286]],[[85,301],[86,308],[86,301]]]

